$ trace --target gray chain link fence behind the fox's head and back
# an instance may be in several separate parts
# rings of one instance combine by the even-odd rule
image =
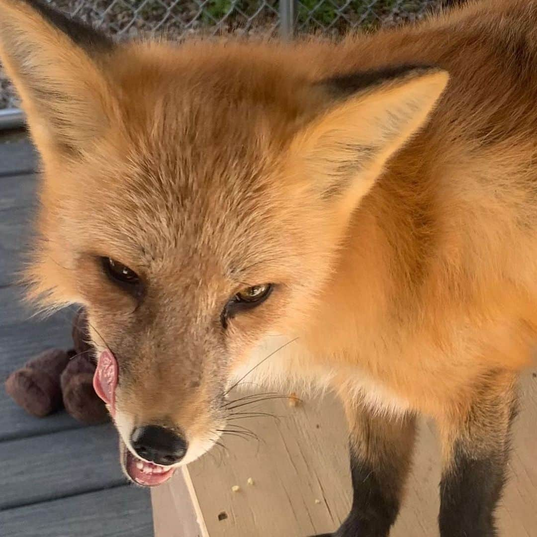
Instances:
[[[128,39],[165,34],[265,34],[291,38],[316,32],[337,37],[422,18],[442,0],[48,0],[56,8]],[[446,0],[444,0],[446,1]],[[0,66],[0,108],[17,98]]]

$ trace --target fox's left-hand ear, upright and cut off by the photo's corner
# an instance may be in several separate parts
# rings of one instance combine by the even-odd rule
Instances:
[[[38,146],[80,150],[107,124],[114,43],[39,0],[0,0],[0,60]]]

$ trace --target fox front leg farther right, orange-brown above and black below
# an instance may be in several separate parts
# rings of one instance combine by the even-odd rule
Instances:
[[[516,383],[513,373],[491,374],[475,388],[467,411],[439,423],[441,537],[497,535],[494,510],[505,482]]]

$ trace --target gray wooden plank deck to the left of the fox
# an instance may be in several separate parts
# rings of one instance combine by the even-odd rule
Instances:
[[[65,412],[33,418],[3,389],[39,351],[71,344],[72,312],[32,320],[13,284],[34,215],[36,163],[27,141],[0,140],[0,535],[152,537],[149,491],[122,476],[112,425],[82,426]]]

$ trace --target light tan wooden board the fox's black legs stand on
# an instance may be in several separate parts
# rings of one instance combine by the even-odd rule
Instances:
[[[524,378],[523,390],[523,408],[514,427],[510,479],[498,510],[502,537],[537,535],[537,379],[531,373]],[[215,449],[212,456],[205,455],[188,468],[192,496],[200,506],[207,535],[305,537],[333,531],[351,502],[346,427],[339,404],[328,396],[297,408],[282,401],[256,408],[280,416],[278,420],[242,420],[262,442],[224,437],[228,452]],[[422,422],[407,495],[391,537],[438,536],[439,460],[434,429]],[[253,485],[247,484],[249,477]],[[235,484],[240,491],[231,491]],[[170,498],[162,498],[181,487],[178,474],[167,490],[159,491],[154,516],[167,520],[168,525],[162,523],[156,537],[176,537],[166,528],[189,513],[192,516],[191,502],[176,504],[173,511]],[[220,513],[227,518],[219,520]]]

